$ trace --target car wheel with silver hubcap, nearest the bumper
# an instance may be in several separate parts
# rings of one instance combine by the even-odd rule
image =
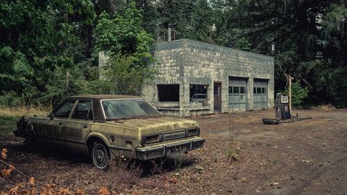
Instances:
[[[94,142],[91,155],[93,164],[96,168],[104,171],[108,169],[110,162],[110,150],[105,143],[99,140]]]

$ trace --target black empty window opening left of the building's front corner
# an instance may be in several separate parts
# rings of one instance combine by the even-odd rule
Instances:
[[[180,85],[157,85],[159,101],[180,101]]]

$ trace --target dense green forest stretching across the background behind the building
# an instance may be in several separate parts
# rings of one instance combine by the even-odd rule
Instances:
[[[305,103],[346,107],[346,6],[346,0],[2,0],[0,104],[137,94],[155,76],[146,66],[155,61],[151,45],[166,41],[173,24],[176,40],[274,56],[276,92],[291,74],[308,91]],[[99,51],[112,56],[105,74],[112,82],[99,80]]]

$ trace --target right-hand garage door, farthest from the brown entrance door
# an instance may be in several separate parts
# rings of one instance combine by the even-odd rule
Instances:
[[[267,109],[268,80],[255,78],[253,83],[253,110]]]

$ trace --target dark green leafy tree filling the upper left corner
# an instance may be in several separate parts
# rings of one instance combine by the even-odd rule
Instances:
[[[89,0],[1,1],[0,93],[48,92],[54,69],[74,65],[69,49],[78,45],[81,26],[94,18]]]

